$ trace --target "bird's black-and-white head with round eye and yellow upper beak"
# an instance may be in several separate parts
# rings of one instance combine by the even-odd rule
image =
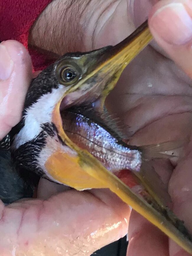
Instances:
[[[57,135],[60,145],[64,147],[59,149],[59,158],[64,156],[65,151],[68,155],[71,152],[75,161],[78,162],[78,166],[80,162],[83,163],[85,159],[88,159],[87,156],[79,155],[80,153],[85,154],[85,151],[80,150],[66,136],[63,130],[61,111],[71,106],[89,105],[96,108],[98,113],[103,112],[105,98],[114,88],[123,69],[151,39],[152,35],[147,22],[145,22],[128,38],[115,46],[107,46],[86,53],[68,53],[43,70],[30,85],[25,100],[23,119],[17,126],[19,132],[14,137],[12,144],[12,150],[17,160],[21,162],[22,159],[24,161],[22,165],[26,166],[29,161],[26,161],[25,153],[28,152],[30,168],[34,168],[37,159],[40,159],[39,165],[42,168],[43,163],[42,169],[50,179],[54,176],[53,180],[77,189],[92,187],[90,182],[88,182],[89,185],[82,184],[78,187],[74,184],[73,179],[71,179],[72,183],[70,183],[71,181],[67,183],[63,171],[60,174],[55,173],[58,168],[54,167],[51,168],[51,171],[48,170],[49,162],[54,162],[54,150],[44,152],[44,148],[50,149],[45,137],[51,130],[54,130],[52,135],[53,133],[54,136]],[[45,132],[47,132],[46,135]],[[40,145],[39,149],[38,145]],[[50,145],[53,149],[52,142]],[[55,145],[55,147],[57,146]],[[40,154],[43,156],[39,157]],[[88,152],[86,154],[90,155]],[[49,159],[48,155],[50,155]],[[90,155],[90,157],[92,156]],[[31,164],[32,160],[34,165]],[[63,163],[63,161],[59,162]],[[78,168],[74,169],[78,170]],[[80,171],[77,174],[76,177],[81,178],[79,180],[81,183],[83,176]],[[100,185],[98,186],[100,187]]]

